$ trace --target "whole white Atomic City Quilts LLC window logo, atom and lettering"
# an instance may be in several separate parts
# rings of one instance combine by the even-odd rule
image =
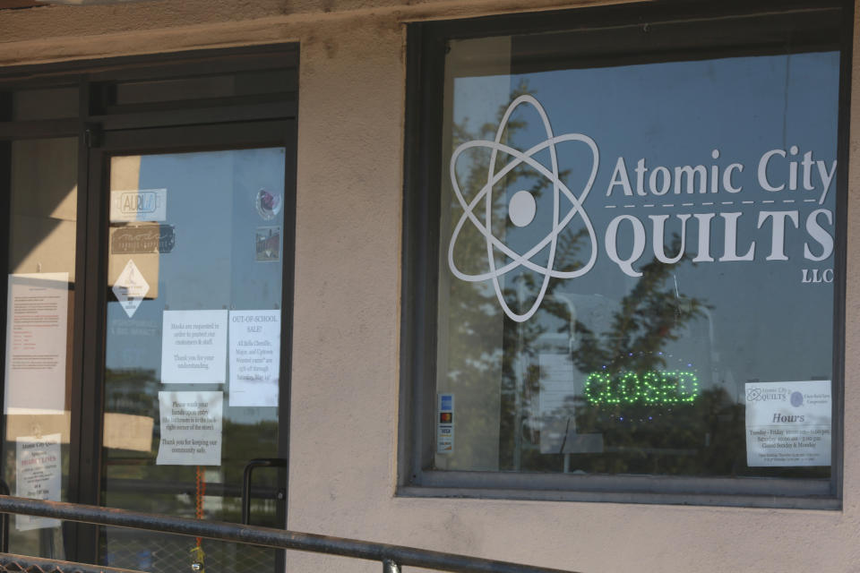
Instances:
[[[518,149],[505,139],[505,133],[515,129],[509,122],[521,123],[512,120],[520,107],[520,113],[529,117],[537,113],[541,120],[529,124],[529,136],[538,129],[545,138],[529,143],[529,149]],[[753,142],[744,146],[744,157],[749,158],[745,161],[716,146],[684,165],[615,157],[598,177],[597,141],[583,133],[555,134],[538,99],[530,95],[515,98],[493,141],[465,141],[452,153],[450,178],[460,217],[453,221],[449,268],[461,280],[492,281],[504,312],[520,322],[537,312],[551,278],[582,277],[598,257],[633,278],[641,277],[641,267],[652,260],[675,264],[686,257],[695,265],[744,261],[778,265],[802,259],[808,264],[798,267],[798,282],[832,282],[833,269],[824,261],[830,259],[834,247],[830,193],[835,188],[836,159],[790,143],[779,148],[762,144],[761,150]],[[563,165],[564,158],[570,157],[562,154],[563,149],[588,159],[590,173]],[[482,158],[480,165],[470,165],[476,158]],[[535,229],[538,238],[534,244],[525,249],[497,236],[500,227],[494,225],[498,214],[493,207],[494,192],[503,189],[505,177],[515,178],[523,169],[533,173],[538,178],[536,185],[544,190],[538,194],[515,192],[504,206],[511,228],[529,227],[531,234],[532,227],[541,227]],[[579,175],[566,175],[574,171]],[[473,177],[477,172],[482,175],[476,186]],[[579,186],[568,187],[570,181],[580,180]],[[539,195],[548,197],[552,207]],[[543,214],[538,212],[538,204],[543,206]],[[486,240],[486,270],[467,269],[466,261],[460,261],[459,244],[468,240],[460,236],[467,227],[469,234],[477,230]],[[568,231],[580,233],[584,240],[581,264],[561,269],[557,257]],[[500,278],[517,270],[535,273],[539,287],[534,304],[519,312],[505,301],[500,285]]]

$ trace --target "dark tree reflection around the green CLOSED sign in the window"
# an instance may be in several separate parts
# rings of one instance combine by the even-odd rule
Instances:
[[[679,244],[675,236],[674,252],[678,252]],[[585,375],[606,372],[610,379],[618,380],[627,372],[644,377],[667,369],[669,343],[680,338],[691,321],[702,317],[701,300],[681,296],[671,285],[671,273],[684,262],[689,262],[687,255],[675,265],[657,260],[643,265],[641,278],[612,313],[606,332],[597,333],[583,321],[573,321],[577,346],[571,357],[578,371]],[[552,281],[549,294],[560,284],[560,280]],[[543,318],[572,320],[567,307],[551,296],[546,297],[541,313]],[[516,332],[517,327],[506,326],[506,330]],[[537,337],[529,338],[526,344],[534,346],[536,342]],[[520,402],[537,400],[541,383],[533,358],[536,350],[527,348],[526,353],[530,366],[526,398]],[[506,406],[510,409],[515,402],[508,400]],[[572,406],[577,432],[598,433],[604,442],[602,453],[577,454],[573,469],[662,475],[737,475],[745,469],[743,406],[725,389],[706,389],[691,402],[675,404],[589,404],[579,396]],[[517,416],[511,412],[505,418]],[[540,424],[529,427],[537,443]],[[505,430],[513,432],[510,424]],[[513,436],[508,437],[509,449],[514,442]],[[541,454],[536,448],[526,449],[521,456],[524,469],[557,471],[561,466],[561,456]]]

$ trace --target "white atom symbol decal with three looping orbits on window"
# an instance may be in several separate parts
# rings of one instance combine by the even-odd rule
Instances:
[[[540,115],[540,118],[544,124],[544,129],[546,130],[546,141],[542,141],[541,143],[538,143],[538,145],[535,145],[534,147],[525,151],[515,150],[512,147],[504,145],[501,142],[502,134],[504,132],[504,128],[508,124],[508,120],[510,119],[514,110],[521,105],[529,105],[531,107],[534,107],[535,110],[538,112],[538,115]],[[577,197],[573,192],[571,192],[571,190],[568,189],[565,184],[563,184],[562,180],[559,179],[558,176],[558,158],[556,157],[555,146],[563,141],[580,141],[582,143],[585,143],[591,150],[591,154],[593,157],[589,181],[585,185],[585,188],[582,190],[579,197]],[[479,192],[477,192],[474,198],[467,202],[466,199],[463,197],[463,193],[460,191],[460,184],[457,181],[456,167],[457,160],[460,158],[460,155],[464,151],[472,148],[485,148],[492,150],[492,152],[490,155],[489,167],[487,169],[486,174],[486,184],[481,188]],[[544,167],[535,158],[533,158],[536,153],[546,149],[549,150],[550,154],[552,164],[551,171]],[[502,151],[503,153],[509,155],[512,160],[510,163],[496,171],[495,162],[499,151]],[[495,184],[497,184],[505,175],[510,173],[512,169],[523,163],[529,165],[530,167],[533,167],[535,170],[538,171],[540,175],[545,176],[546,179],[553,184],[553,227],[547,229],[546,236],[541,239],[537,244],[532,246],[529,251],[520,254],[519,252],[513,251],[511,247],[504,244],[498,239],[498,237],[493,235],[492,214],[493,188]],[[498,298],[499,304],[502,305],[504,313],[507,314],[512,321],[528,321],[529,318],[531,318],[535,312],[538,312],[538,308],[540,308],[540,304],[544,300],[544,295],[546,295],[546,287],[549,286],[550,278],[581,277],[585,273],[589,272],[591,267],[594,266],[594,262],[598,258],[598,241],[597,237],[594,235],[594,227],[591,226],[589,216],[585,212],[584,207],[582,206],[582,204],[585,202],[586,197],[588,197],[589,192],[591,191],[591,186],[594,184],[595,177],[598,175],[598,163],[598,146],[589,136],[583,135],[581,133],[565,133],[563,135],[553,135],[553,129],[549,124],[549,118],[546,116],[544,108],[541,107],[537,99],[529,95],[520,96],[519,98],[514,99],[511,102],[511,105],[508,106],[508,108],[504,112],[502,121],[499,124],[499,128],[495,133],[495,141],[466,141],[462,143],[456,150],[454,150],[451,156],[451,183],[453,186],[454,194],[456,194],[457,196],[457,201],[460,201],[460,207],[463,208],[463,214],[460,216],[460,220],[454,227],[454,231],[451,237],[451,244],[449,244],[448,246],[448,266],[454,276],[460,278],[461,280],[466,280],[469,282],[492,280],[493,286],[495,288],[496,298]],[[563,215],[561,205],[562,197],[566,198],[567,201],[570,201],[571,203],[570,210],[567,210]],[[478,203],[481,200],[484,201],[485,205],[483,221],[478,219],[474,212]],[[529,225],[529,223],[531,223],[535,215],[536,208],[534,197],[532,197],[531,193],[529,193],[528,191],[516,192],[511,199],[508,209],[509,217],[511,218],[512,223],[517,227],[525,227]],[[591,239],[591,256],[589,258],[588,263],[583,265],[580,269],[575,269],[571,271],[556,270],[555,246],[558,242],[558,235],[560,235],[563,230],[567,228],[572,219],[577,215],[580,216],[582,225],[587,229],[589,233],[589,237]],[[469,273],[462,272],[460,269],[458,269],[457,264],[454,262],[454,247],[457,244],[457,238],[460,236],[460,230],[463,228],[467,221],[474,225],[481,235],[484,235],[484,238],[486,240],[486,259],[487,264],[490,268],[488,272],[470,275]],[[541,250],[543,250],[547,244],[549,245],[549,257],[546,261],[546,266],[539,265],[538,263],[532,261],[535,255],[537,255],[538,252],[541,252]],[[512,259],[512,261],[502,267],[496,268],[495,257],[493,254],[494,248],[498,249],[500,252],[503,252],[510,259]],[[499,277],[503,276],[505,273],[511,272],[512,270],[521,268],[529,269],[540,275],[543,275],[543,281],[541,282],[540,292],[538,293],[535,302],[531,305],[531,308],[529,308],[529,310],[523,314],[517,314],[516,312],[512,311],[512,309],[504,300],[504,296],[502,294],[502,287],[499,285]]]

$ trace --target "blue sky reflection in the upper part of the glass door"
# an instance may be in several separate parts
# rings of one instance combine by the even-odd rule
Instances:
[[[145,299],[131,319],[116,302],[107,304],[108,369],[139,368],[160,377],[164,310],[280,308],[281,262],[256,261],[254,240],[258,228],[283,227],[283,210],[263,220],[255,198],[266,189],[283,201],[284,168],[282,148],[142,157],[139,188],[168,190],[162,224],[176,228],[176,246],[159,257],[157,299]],[[117,335],[124,327],[141,330]],[[239,410],[257,416],[250,408],[226,408],[225,415]]]

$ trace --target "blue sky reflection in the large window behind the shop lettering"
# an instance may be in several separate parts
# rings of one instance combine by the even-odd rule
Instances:
[[[828,170],[836,158],[836,133],[839,87],[839,54],[836,52],[799,54],[792,56],[757,56],[727,58],[710,61],[641,64],[621,67],[559,70],[543,73],[525,73],[514,76],[458,78],[453,90],[453,121],[467,122],[469,133],[477,132],[481,124],[497,124],[500,107],[511,101],[511,92],[520,82],[526,82],[546,110],[555,135],[584,133],[598,144],[600,161],[598,175],[585,209],[598,236],[598,262],[588,275],[567,280],[558,292],[577,300],[590,297],[594,305],[605,305],[613,312],[617,302],[630,292],[636,279],[628,277],[606,256],[605,232],[609,221],[618,215],[639,218],[646,227],[649,243],[640,259],[634,264],[653,258],[650,242],[649,215],[669,214],[667,236],[680,231],[675,214],[742,212],[738,222],[737,252],[747,252],[751,241],[756,241],[754,262],[700,262],[693,267],[684,262],[674,270],[673,284],[679,295],[697,297],[710,308],[710,322],[688,327],[685,339],[675,345],[676,355],[683,362],[692,356],[692,362],[708,363],[717,360],[718,379],[743,384],[749,379],[761,381],[809,380],[813,377],[830,378],[832,340],[830,336],[833,312],[831,286],[802,284],[803,269],[830,269],[832,256],[827,261],[813,262],[804,259],[804,244],[821,252],[821,247],[805,231],[807,215],[821,207],[833,209],[836,182],[824,205],[818,204],[821,196],[821,179],[813,167],[813,191],[767,192],[761,189],[756,171],[761,155],[768,150],[788,150],[792,145],[800,148],[797,161],[806,151],[813,151],[813,160],[824,160]],[[538,114],[529,107],[520,107],[513,120],[527,122],[527,127],[516,133],[508,144],[519,150],[544,141],[546,133]],[[489,136],[492,139],[492,135]],[[711,158],[712,150],[719,150],[720,158]],[[563,143],[558,148],[559,168],[570,170],[564,179],[572,192],[581,195],[590,170],[590,153],[581,143]],[[461,158],[458,165],[464,176],[469,161],[486,165],[489,153],[475,151]],[[546,167],[550,166],[548,153],[536,155]],[[633,171],[640,158],[647,167],[716,165],[722,170],[731,163],[744,164],[744,171],[735,174],[735,186],[744,191],[736,194],[726,191],[699,195],[675,195],[670,191],[658,197],[634,195],[625,197],[621,187],[615,187],[606,196],[612,179],[615,162],[624,157],[631,184],[636,185]],[[500,155],[496,169],[509,160]],[[787,181],[788,159],[774,158],[768,171],[775,183]],[[447,173],[447,172],[446,172]],[[533,173],[533,171],[532,171]],[[646,174],[646,190],[648,174]],[[527,176],[516,185],[504,188],[498,185],[495,193],[506,192],[508,199],[520,189],[528,189],[538,179]],[[803,181],[802,172],[798,175]],[[544,238],[552,226],[552,188],[548,187],[538,198],[538,215],[527,227],[507,225],[500,237],[515,251],[525,252]],[[807,201],[815,200],[815,201]],[[469,201],[469,197],[467,197]],[[724,204],[731,201],[731,205]],[[741,201],[753,201],[744,204]],[[762,201],[772,201],[764,203]],[[788,202],[790,201],[790,202]],[[702,205],[712,202],[713,205]],[[682,203],[693,203],[682,206]],[[653,204],[654,207],[644,205]],[[671,204],[672,207],[662,207]],[[482,206],[476,210],[483,219]],[[562,200],[562,212],[570,208]],[[615,206],[606,208],[606,206]],[[761,210],[797,210],[799,227],[787,222],[785,252],[789,261],[767,261],[770,254],[768,220],[756,229]],[[460,218],[459,208],[452,212],[452,224]],[[821,224],[832,233],[832,227]],[[495,220],[495,228],[503,222]],[[711,222],[710,254],[718,259],[723,254],[723,219],[717,215]],[[581,227],[581,218],[573,218],[571,228]],[[632,242],[629,226],[618,235],[619,245]],[[498,235],[498,234],[497,234]],[[450,236],[450,232],[449,235]],[[686,251],[698,250],[698,224],[687,222]],[[447,247],[447,244],[444,244]],[[545,262],[544,251],[535,259]],[[588,241],[583,244],[581,258],[587,259]],[[624,257],[629,247],[620,246]],[[670,249],[667,255],[672,256]],[[506,260],[497,257],[498,263]],[[556,268],[559,262],[556,261]],[[485,271],[486,269],[470,269]],[[515,273],[505,277],[512,280]],[[528,308],[528,301],[526,302]],[[586,304],[589,306],[589,304]],[[524,309],[525,310],[525,309]],[[589,311],[590,312],[590,311]],[[557,327],[557,321],[541,318],[547,325]],[[581,319],[582,320],[582,319]],[[586,326],[589,326],[586,323]],[[598,324],[592,328],[600,330]],[[555,328],[554,328],[555,330]],[[712,334],[711,334],[712,332]],[[707,381],[707,380],[703,380]],[[730,390],[731,391],[731,390]]]

